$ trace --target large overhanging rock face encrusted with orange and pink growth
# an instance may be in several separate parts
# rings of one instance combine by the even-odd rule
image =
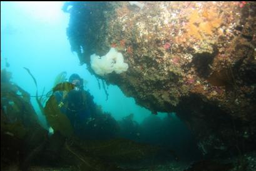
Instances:
[[[255,150],[255,2],[69,3],[71,50],[90,72],[91,54],[115,47],[128,71],[97,77],[177,112],[205,155]]]

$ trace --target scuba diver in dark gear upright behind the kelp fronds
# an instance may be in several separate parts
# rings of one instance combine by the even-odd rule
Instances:
[[[85,120],[91,117],[91,104],[89,99],[93,99],[89,92],[83,89],[83,79],[78,74],[72,74],[69,82],[75,85],[73,90],[67,94],[62,91],[55,92],[58,106],[66,114],[77,132]]]

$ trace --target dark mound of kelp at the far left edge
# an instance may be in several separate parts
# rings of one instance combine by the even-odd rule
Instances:
[[[28,92],[11,82],[10,76],[1,70],[1,169],[13,163],[24,169],[47,131],[39,123]]]

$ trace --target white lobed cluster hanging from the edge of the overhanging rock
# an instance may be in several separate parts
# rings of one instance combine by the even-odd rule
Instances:
[[[125,72],[128,69],[128,64],[123,62],[123,55],[111,47],[110,51],[105,56],[91,55],[91,68],[96,74],[104,76],[115,71],[116,74]]]

